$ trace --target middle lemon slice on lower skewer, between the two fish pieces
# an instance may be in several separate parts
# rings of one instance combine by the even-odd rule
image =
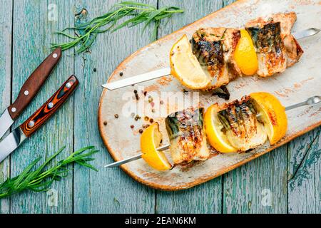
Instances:
[[[219,152],[237,152],[238,150],[230,145],[227,136],[222,132],[224,128],[218,118],[219,106],[217,103],[211,105],[204,115],[205,132],[208,142]]]

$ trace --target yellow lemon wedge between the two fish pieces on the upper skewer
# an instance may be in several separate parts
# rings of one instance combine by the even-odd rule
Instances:
[[[258,71],[258,56],[248,31],[240,29],[240,33],[241,38],[235,48],[234,58],[240,71],[246,76],[252,76]]]

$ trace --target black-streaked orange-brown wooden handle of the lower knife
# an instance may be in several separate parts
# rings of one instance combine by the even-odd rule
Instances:
[[[63,86],[49,99],[44,105],[36,110],[34,115],[20,125],[21,130],[26,137],[30,137],[36,132],[49,118],[51,118],[56,111],[61,108],[61,105],[69,98],[71,93],[76,90],[78,86],[78,79],[76,76],[71,76],[63,83]]]

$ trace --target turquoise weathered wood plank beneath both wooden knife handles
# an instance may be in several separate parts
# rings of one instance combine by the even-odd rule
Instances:
[[[51,53],[50,43],[57,41],[54,31],[73,22],[73,17],[66,9],[72,9],[72,1],[19,0],[14,1],[14,41],[13,41],[13,95],[16,98],[26,78],[39,66],[39,63]],[[56,12],[52,7],[56,7]],[[49,15],[53,13],[54,15]],[[55,18],[56,16],[56,18]],[[63,53],[61,63],[41,89],[39,95],[26,109],[17,123],[24,121],[39,108],[68,76],[73,73],[73,58]],[[66,145],[66,150],[56,160],[68,156],[73,150],[73,98],[59,110],[54,118],[41,128],[38,133],[24,143],[11,155],[11,176],[18,175],[29,162],[36,157],[51,156],[56,150]],[[43,161],[43,160],[42,160]],[[50,199],[55,195],[48,193],[24,192],[11,198],[12,213],[70,213],[72,212],[72,172],[71,175],[55,182],[49,194],[56,193],[58,202]]]

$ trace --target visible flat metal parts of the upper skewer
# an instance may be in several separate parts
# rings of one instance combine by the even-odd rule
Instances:
[[[296,33],[292,33],[292,36],[294,36],[296,39],[305,38],[308,36],[313,36],[320,32],[320,29],[318,28],[307,28],[302,31],[298,31]],[[106,83],[101,85],[103,88],[106,88],[108,90],[116,90],[118,88],[124,88],[127,86],[132,86],[138,83],[143,83],[146,81],[151,81],[156,78],[162,78],[163,76],[170,75],[170,68],[162,68],[160,70],[156,71],[150,71],[148,73],[143,73],[137,76],[132,76],[130,78],[125,78],[122,80],[114,81],[111,83]]]

